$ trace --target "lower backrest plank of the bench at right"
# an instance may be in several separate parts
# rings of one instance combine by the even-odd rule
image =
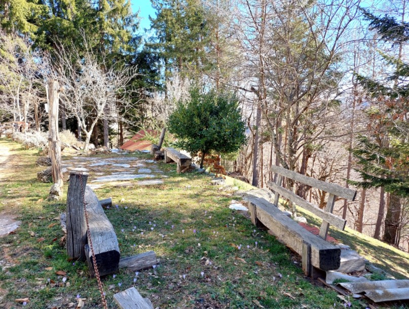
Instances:
[[[309,212],[320,217],[326,222],[329,222],[331,225],[339,228],[340,230],[344,230],[347,221],[342,219],[341,217],[338,217],[331,213],[327,213],[326,211],[316,207],[315,205],[311,204],[310,202],[306,201],[304,198],[296,195],[295,193],[292,193],[291,191],[278,186],[274,182],[268,181],[267,186],[274,190],[275,192],[278,192],[285,198],[290,199],[292,202],[299,205],[300,207],[308,210]]]

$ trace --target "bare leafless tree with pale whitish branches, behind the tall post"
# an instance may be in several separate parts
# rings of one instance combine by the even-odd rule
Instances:
[[[88,150],[94,127],[100,119],[121,118],[131,107],[130,81],[136,76],[135,67],[113,67],[98,61],[84,38],[84,51],[60,46],[56,51],[54,74],[59,80],[61,100],[67,117],[77,119],[85,132],[84,150]],[[117,102],[121,101],[121,114]]]

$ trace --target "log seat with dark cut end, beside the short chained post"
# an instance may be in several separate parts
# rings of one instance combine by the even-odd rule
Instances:
[[[85,189],[85,201],[87,202],[89,231],[99,275],[105,276],[117,271],[119,268],[120,250],[118,238],[114,227],[102,209],[101,203],[89,186]],[[94,276],[91,248],[87,246],[85,251],[91,276]]]

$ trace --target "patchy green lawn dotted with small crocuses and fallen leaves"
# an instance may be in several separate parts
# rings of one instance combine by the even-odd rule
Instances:
[[[0,175],[0,213],[22,222],[15,234],[0,238],[0,308],[21,308],[15,299],[25,297],[30,300],[26,308],[75,308],[77,294],[86,298],[83,308],[100,308],[97,282],[89,279],[86,263],[68,261],[60,243],[63,232],[55,218],[65,211],[65,200],[46,200],[50,184],[36,180],[43,169],[35,166],[37,151],[6,139],[0,139],[0,147],[11,151]],[[336,292],[304,277],[299,257],[228,208],[232,192],[219,192],[209,176],[178,175],[174,164],[158,165],[168,176],[162,185],[95,190],[100,199],[111,197],[118,204],[105,213],[117,232],[121,255],[154,250],[160,258],[155,269],[138,273],[136,283],[135,273],[125,269],[115,278],[103,278],[109,308],[117,307],[113,294],[133,285],[161,309],[344,308]],[[356,246],[364,245],[359,240]],[[367,254],[381,259],[382,250],[382,260],[393,263],[392,251],[378,243],[371,246]],[[398,259],[396,271],[405,269],[400,272],[405,276],[408,257]],[[56,271],[66,272],[65,283]],[[363,300],[351,302],[352,308],[366,307]]]

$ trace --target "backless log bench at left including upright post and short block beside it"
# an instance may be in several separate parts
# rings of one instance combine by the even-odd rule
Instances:
[[[113,273],[118,268],[132,271],[152,267],[158,263],[155,252],[149,251],[131,257],[121,258],[118,238],[113,225],[106,217],[101,201],[87,186],[88,175],[71,173],[67,191],[67,255],[71,259],[87,260],[91,277],[95,276],[91,248],[88,244],[84,201],[88,214],[89,232],[100,276]],[[82,184],[82,188],[81,188]],[[84,199],[83,194],[84,192]],[[109,200],[105,200],[109,204]]]

